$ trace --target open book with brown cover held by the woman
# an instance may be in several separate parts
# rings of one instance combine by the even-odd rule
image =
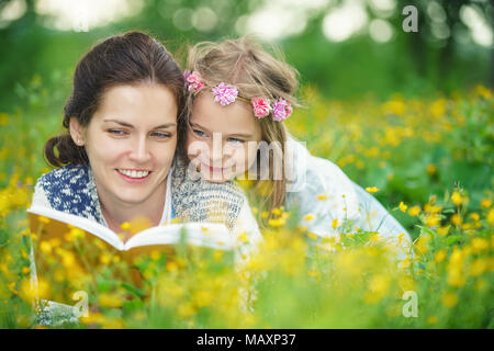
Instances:
[[[220,223],[167,224],[135,233],[124,241],[122,235],[94,220],[53,208],[33,205],[27,217],[35,238],[37,279],[49,285],[47,297],[57,302],[69,302],[74,292],[88,284],[94,287],[109,268],[141,286],[139,259],[165,257],[168,262],[183,247],[231,252],[235,248],[234,236]]]

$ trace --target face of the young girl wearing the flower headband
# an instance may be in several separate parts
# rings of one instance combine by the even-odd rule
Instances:
[[[260,126],[240,100],[222,106],[210,91],[194,100],[187,132],[188,157],[205,180],[226,182],[254,163]]]

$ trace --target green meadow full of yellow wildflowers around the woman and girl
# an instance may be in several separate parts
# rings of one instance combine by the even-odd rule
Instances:
[[[40,248],[60,267],[58,285],[29,283],[38,238],[25,210],[49,171],[42,148],[60,132],[65,99],[44,86],[35,76],[18,87],[22,107],[0,111],[0,328],[46,328],[35,296],[68,286],[77,269],[59,242],[48,242]],[[242,267],[220,251],[151,254],[139,262],[146,281],[136,287],[112,275],[128,268],[109,252],[93,273],[90,302],[99,308],[57,327],[493,328],[493,91],[338,101],[305,86],[300,97],[291,133],[391,211],[413,238],[408,257],[396,261],[379,233],[341,229],[321,239],[285,208],[254,207],[265,240]]]

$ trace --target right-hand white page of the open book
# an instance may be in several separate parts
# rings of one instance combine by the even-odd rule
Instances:
[[[168,224],[143,230],[124,245],[124,250],[150,245],[172,245],[180,241],[181,229],[186,229],[187,242],[218,250],[231,250],[235,246],[233,235],[224,224],[184,223]]]

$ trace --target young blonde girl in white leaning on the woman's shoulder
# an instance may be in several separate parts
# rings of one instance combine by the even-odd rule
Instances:
[[[256,186],[268,189],[269,207],[296,210],[310,231],[332,236],[351,224],[405,244],[406,254],[411,239],[400,223],[336,165],[312,156],[288,133],[283,121],[297,106],[296,77],[248,38],[192,47],[184,73],[189,169],[212,182],[248,170]]]

